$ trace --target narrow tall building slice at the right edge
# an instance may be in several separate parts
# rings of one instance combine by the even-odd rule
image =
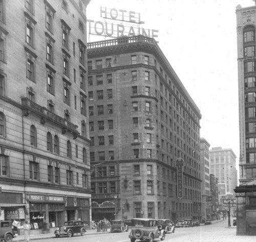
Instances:
[[[237,6],[240,185],[237,197],[237,234],[254,233],[256,223],[256,6]]]

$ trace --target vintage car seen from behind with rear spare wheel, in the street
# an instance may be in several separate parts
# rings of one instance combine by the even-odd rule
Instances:
[[[165,232],[162,226],[158,225],[157,219],[133,218],[129,238],[131,242],[135,242],[136,239],[146,239],[148,242],[153,242],[157,238],[164,240]]]

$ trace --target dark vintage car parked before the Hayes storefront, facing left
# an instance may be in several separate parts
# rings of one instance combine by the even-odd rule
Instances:
[[[56,237],[60,235],[72,237],[74,234],[81,234],[83,236],[84,233],[86,233],[86,227],[81,220],[66,221],[63,226],[54,231]]]

